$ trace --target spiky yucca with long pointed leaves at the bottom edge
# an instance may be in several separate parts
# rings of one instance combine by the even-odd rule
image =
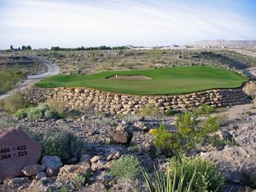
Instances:
[[[164,173],[160,167],[154,166],[154,177],[149,177],[148,173],[142,168],[143,177],[146,181],[149,192],[189,192],[195,178],[195,172],[189,183],[185,183],[185,173],[177,180],[176,169],[171,173],[171,167],[167,167],[167,172]],[[137,192],[139,192],[137,190]]]

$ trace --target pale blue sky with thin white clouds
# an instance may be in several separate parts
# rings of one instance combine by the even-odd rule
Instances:
[[[0,49],[255,40],[255,0],[0,0]]]

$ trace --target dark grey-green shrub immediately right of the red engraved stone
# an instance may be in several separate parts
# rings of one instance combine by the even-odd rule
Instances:
[[[63,161],[80,157],[84,142],[70,132],[45,132],[38,138],[42,145],[42,155],[59,156]]]

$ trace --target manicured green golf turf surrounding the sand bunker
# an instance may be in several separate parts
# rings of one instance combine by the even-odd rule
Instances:
[[[115,75],[145,75],[147,80],[107,79]],[[236,88],[247,79],[222,68],[194,66],[111,71],[90,75],[55,75],[36,85],[44,88],[89,87],[136,95],[176,95],[214,88]]]

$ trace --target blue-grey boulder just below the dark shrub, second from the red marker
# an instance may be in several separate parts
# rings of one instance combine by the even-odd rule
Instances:
[[[42,165],[46,166],[46,174],[49,177],[57,176],[62,166],[61,158],[57,156],[45,155],[42,160]]]

